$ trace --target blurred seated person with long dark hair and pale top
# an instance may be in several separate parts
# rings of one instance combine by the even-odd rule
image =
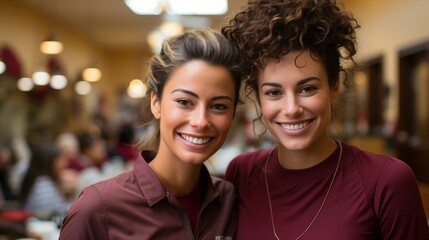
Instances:
[[[32,145],[31,154],[19,196],[23,209],[41,219],[64,214],[71,205],[60,182],[67,159],[55,144],[48,142]]]

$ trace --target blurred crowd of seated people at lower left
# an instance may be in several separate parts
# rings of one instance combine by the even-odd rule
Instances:
[[[0,236],[24,236],[30,218],[60,227],[84,187],[132,168],[136,135],[132,124],[108,137],[97,128],[60,132],[26,139],[25,153],[0,141]]]

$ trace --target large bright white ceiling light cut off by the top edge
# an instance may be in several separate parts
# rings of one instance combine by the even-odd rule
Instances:
[[[124,0],[138,15],[223,15],[228,12],[228,0]]]

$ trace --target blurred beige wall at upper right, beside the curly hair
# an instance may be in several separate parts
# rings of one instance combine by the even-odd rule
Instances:
[[[399,51],[429,41],[429,1],[427,0],[345,0],[353,12],[358,30],[358,61],[383,56],[385,83],[392,94],[385,112],[387,121],[398,115]]]

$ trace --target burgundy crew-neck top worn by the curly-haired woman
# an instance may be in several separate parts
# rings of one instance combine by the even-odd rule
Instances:
[[[295,239],[319,210],[339,158],[334,151],[308,169],[287,170],[271,150],[236,157],[225,178],[237,186],[239,217],[234,239]],[[402,161],[375,155],[343,143],[343,155],[331,192],[308,232],[310,240],[426,240],[429,229],[417,182]]]

